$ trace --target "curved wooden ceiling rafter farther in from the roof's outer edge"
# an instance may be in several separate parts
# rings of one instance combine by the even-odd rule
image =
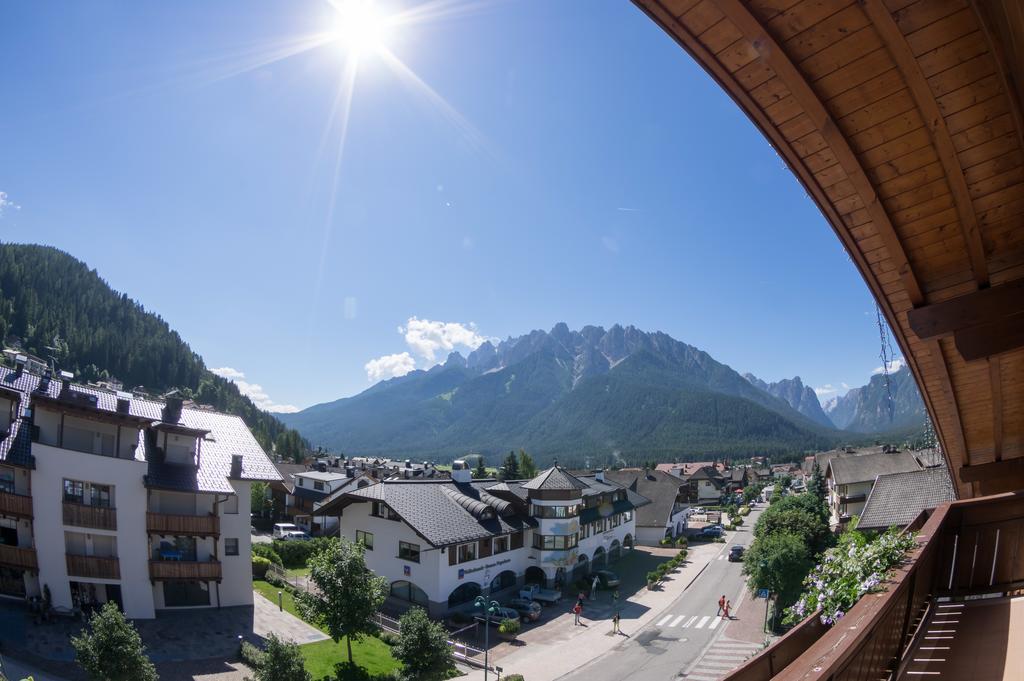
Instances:
[[[964,242],[967,246],[968,256],[971,259],[971,270],[974,272],[974,281],[979,288],[988,286],[988,265],[985,262],[985,249],[981,243],[981,229],[978,227],[978,215],[974,211],[971,201],[971,191],[967,186],[967,179],[964,176],[964,168],[961,167],[959,157],[956,147],[953,146],[952,136],[949,128],[946,127],[946,119],[939,111],[939,104],[935,100],[935,93],[925,80],[925,74],[921,71],[910,46],[906,42],[906,37],[900,28],[893,20],[889,9],[882,3],[882,0],[860,0],[860,6],[864,13],[874,25],[874,30],[882,38],[882,43],[889,50],[896,68],[903,75],[910,94],[913,96],[921,116],[925,121],[925,126],[932,138],[932,144],[942,163],[942,169],[946,174],[946,183],[949,185],[949,193],[953,197],[956,206],[956,214],[959,217],[961,232],[964,235]]]

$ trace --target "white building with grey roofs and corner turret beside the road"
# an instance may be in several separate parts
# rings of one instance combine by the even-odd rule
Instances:
[[[392,604],[440,615],[481,593],[526,583],[568,585],[633,547],[643,497],[603,474],[555,466],[528,481],[384,480],[344,492],[318,512],[362,543],[367,565],[391,584]]]

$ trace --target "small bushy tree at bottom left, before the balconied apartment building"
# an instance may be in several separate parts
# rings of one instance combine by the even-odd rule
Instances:
[[[88,628],[72,637],[75,661],[92,681],[158,681],[142,638],[114,601],[89,619]]]

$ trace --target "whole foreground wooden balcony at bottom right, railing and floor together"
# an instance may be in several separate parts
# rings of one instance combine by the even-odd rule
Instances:
[[[1024,608],[1011,597],[1024,584],[1024,493],[942,505],[908,529],[920,530],[919,546],[885,591],[830,629],[808,618],[726,681],[1017,678],[1010,642]],[[926,639],[933,625],[952,632],[941,634],[941,655]]]

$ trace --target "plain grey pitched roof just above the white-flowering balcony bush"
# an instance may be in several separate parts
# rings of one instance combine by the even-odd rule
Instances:
[[[879,475],[857,527],[902,527],[925,509],[935,508],[955,498],[949,470],[945,466]]]

